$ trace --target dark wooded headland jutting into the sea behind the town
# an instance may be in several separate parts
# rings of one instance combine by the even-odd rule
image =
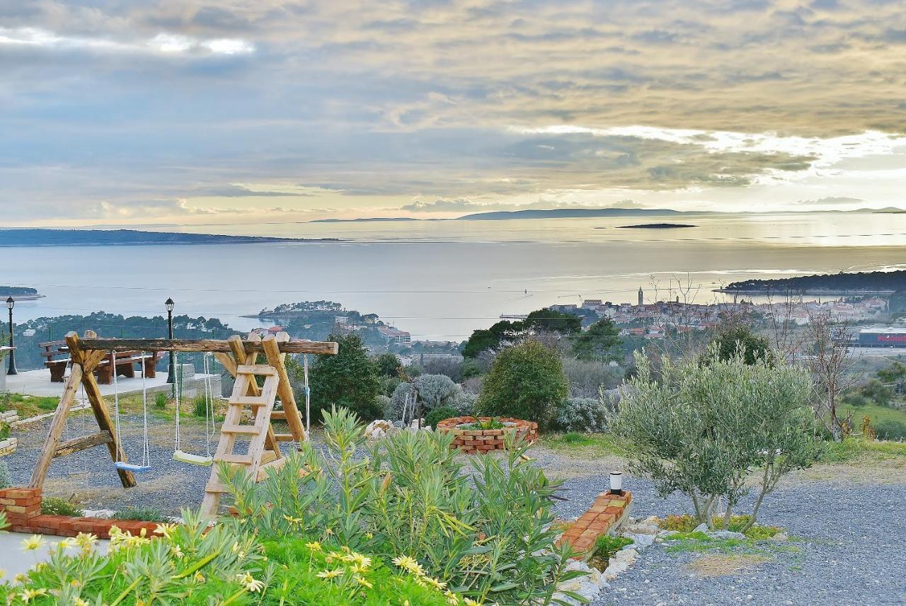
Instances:
[[[893,294],[906,291],[906,270],[814,274],[776,280],[734,282],[718,293]]]

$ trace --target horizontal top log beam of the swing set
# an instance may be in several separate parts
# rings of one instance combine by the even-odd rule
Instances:
[[[83,339],[82,350],[103,351],[233,351],[231,340],[222,339]],[[264,350],[261,341],[243,341],[249,353]],[[282,353],[335,354],[339,345],[333,341],[294,339],[280,343]]]

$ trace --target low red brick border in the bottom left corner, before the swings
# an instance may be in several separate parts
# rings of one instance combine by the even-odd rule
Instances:
[[[13,533],[53,534],[75,536],[79,533],[96,534],[109,539],[111,527],[123,532],[156,536],[157,522],[140,520],[110,520],[101,517],[72,517],[69,515],[43,515],[41,513],[41,488],[5,488],[0,490],[0,511],[5,512]]]

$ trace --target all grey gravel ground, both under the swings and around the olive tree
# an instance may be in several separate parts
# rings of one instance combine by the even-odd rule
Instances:
[[[139,421],[124,417],[122,433],[130,460],[140,454]],[[16,432],[18,450],[5,457],[15,484],[27,483],[48,425],[49,420],[31,431]],[[91,433],[92,426],[91,418],[84,428],[81,420],[71,420],[64,439]],[[177,514],[180,507],[200,505],[210,468],[172,460],[172,422],[151,419],[149,435],[153,469],[139,476],[139,486],[121,488],[106,448],[94,447],[54,459],[45,493],[74,495],[83,506],[114,510],[133,505]],[[318,441],[317,436],[314,439]],[[182,443],[183,449],[204,453],[202,424],[184,421]],[[216,443],[215,438],[212,449]],[[567,457],[544,447],[535,448],[532,456],[549,475],[565,478],[562,494],[569,500],[555,505],[564,519],[583,514],[606,488],[607,472],[622,467],[618,457]],[[744,562],[748,565],[741,570],[728,572],[700,566],[700,558],[708,553],[667,553],[656,543],[641,552],[629,572],[612,582],[594,604],[906,604],[903,467],[899,462],[893,467],[855,467],[858,476],[868,478],[860,483],[842,481],[844,476],[834,473],[827,474],[829,479],[813,474],[787,480],[768,497],[760,518],[788,529],[795,539],[786,544],[794,548],[791,553],[769,552],[762,558],[766,561]],[[634,495],[636,517],[689,511],[685,499],[678,495],[661,499],[641,478],[624,477],[624,486]]]

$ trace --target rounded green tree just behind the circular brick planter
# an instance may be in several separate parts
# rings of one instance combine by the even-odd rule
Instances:
[[[481,415],[524,418],[546,427],[568,393],[560,356],[529,340],[497,355],[477,409]]]

